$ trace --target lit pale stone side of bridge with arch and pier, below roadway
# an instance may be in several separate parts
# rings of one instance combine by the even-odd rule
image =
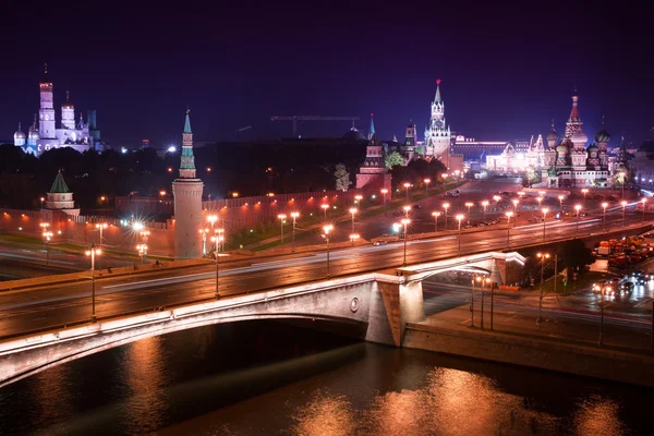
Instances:
[[[400,347],[405,324],[425,316],[422,280],[465,270],[506,282],[523,263],[518,253],[472,254],[398,268],[395,275],[392,270],[351,275],[15,337],[0,342],[0,387],[140,339],[250,319],[319,319],[348,325],[361,339]]]

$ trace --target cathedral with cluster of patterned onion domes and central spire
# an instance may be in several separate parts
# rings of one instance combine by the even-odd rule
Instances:
[[[583,187],[613,184],[609,171],[613,162],[609,162],[608,157],[610,135],[604,129],[603,122],[602,130],[595,135],[596,144],[585,147],[589,137],[583,131],[577,95],[572,96],[572,110],[562,140],[559,142],[554,122],[546,140],[547,148],[543,152],[542,166],[542,179],[546,186]]]

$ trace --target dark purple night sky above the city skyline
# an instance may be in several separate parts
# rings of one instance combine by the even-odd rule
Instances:
[[[57,126],[70,89],[76,112],[97,109],[113,146],[179,144],[186,105],[196,141],[231,141],[246,125],[250,138],[290,136],[291,123],[272,123],[272,114],[358,116],[367,132],[371,112],[384,140],[401,140],[410,119],[422,137],[436,78],[452,131],[477,140],[545,134],[553,118],[561,132],[576,85],[590,137],[603,114],[611,144],[620,134],[637,144],[654,135],[645,10],[577,2],[542,10],[531,2],[13,3],[21,5],[2,13],[0,140],[11,140],[19,121],[23,131],[32,123],[44,62]],[[341,135],[349,126],[312,122],[299,133]]]

